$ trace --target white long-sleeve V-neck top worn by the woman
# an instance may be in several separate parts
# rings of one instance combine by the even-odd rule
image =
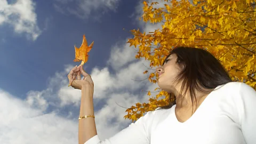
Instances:
[[[245,83],[216,87],[183,123],[175,106],[149,111],[113,137],[101,141],[95,135],[85,144],[256,143],[256,92]]]

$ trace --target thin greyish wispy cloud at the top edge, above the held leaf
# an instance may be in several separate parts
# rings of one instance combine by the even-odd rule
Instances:
[[[76,15],[78,18],[87,19],[89,15],[93,15],[92,18],[99,20],[101,14],[108,11],[116,11],[120,0],[66,0],[60,1],[58,4],[53,4],[56,11],[64,14],[70,13]],[[75,4],[74,7],[70,7],[70,3]],[[101,12],[101,13],[99,13]]]

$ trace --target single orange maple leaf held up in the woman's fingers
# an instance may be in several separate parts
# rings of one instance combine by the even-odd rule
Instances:
[[[87,60],[88,60],[88,57],[89,57],[88,53],[91,51],[93,44],[94,44],[94,41],[88,46],[85,35],[83,35],[83,43],[79,47],[79,49],[75,45],[75,55],[76,55],[76,57],[73,61],[79,62],[79,61],[82,60],[81,65],[83,66],[84,63],[86,63]]]

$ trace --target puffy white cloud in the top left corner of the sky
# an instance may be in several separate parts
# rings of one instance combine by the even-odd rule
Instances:
[[[15,33],[27,34],[29,39],[36,40],[41,34],[37,26],[35,3],[32,0],[17,0],[9,4],[7,0],[0,1],[0,26],[4,23],[12,25]]]

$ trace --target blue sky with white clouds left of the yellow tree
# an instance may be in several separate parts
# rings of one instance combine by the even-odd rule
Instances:
[[[141,13],[138,0],[0,1],[0,143],[77,143],[81,91],[67,86],[67,74],[79,65],[74,45],[83,34],[94,41],[84,69],[100,138],[129,125],[118,105],[147,102],[141,90],[157,87],[132,80],[147,77],[148,62],[135,60],[129,30],[160,27],[139,21]]]

